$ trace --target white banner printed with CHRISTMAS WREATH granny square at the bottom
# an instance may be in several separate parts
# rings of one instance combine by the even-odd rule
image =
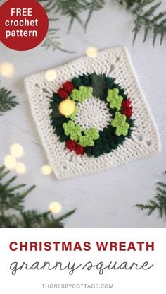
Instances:
[[[165,233],[1,229],[1,293],[165,293]]]

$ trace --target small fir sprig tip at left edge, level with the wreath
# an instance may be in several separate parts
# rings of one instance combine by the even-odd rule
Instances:
[[[4,87],[0,88],[0,115],[11,110],[16,105],[18,105],[18,102],[15,101],[15,96],[11,95],[11,91]]]

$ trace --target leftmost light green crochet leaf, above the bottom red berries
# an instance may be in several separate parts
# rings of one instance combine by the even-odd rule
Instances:
[[[64,122],[63,129],[66,136],[70,136],[70,139],[73,141],[78,141],[82,136],[82,127],[75,125],[72,120]]]

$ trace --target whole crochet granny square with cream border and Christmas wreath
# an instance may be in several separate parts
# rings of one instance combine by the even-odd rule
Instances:
[[[157,127],[124,47],[25,79],[34,121],[58,179],[108,170],[160,150]]]

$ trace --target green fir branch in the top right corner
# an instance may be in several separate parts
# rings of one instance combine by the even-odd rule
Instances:
[[[143,42],[146,42],[149,33],[153,33],[153,46],[155,45],[156,37],[160,37],[160,45],[166,33],[166,11],[159,12],[158,8],[161,2],[156,0],[115,0],[121,6],[124,6],[129,13],[134,16],[134,38],[141,29],[144,30]]]

